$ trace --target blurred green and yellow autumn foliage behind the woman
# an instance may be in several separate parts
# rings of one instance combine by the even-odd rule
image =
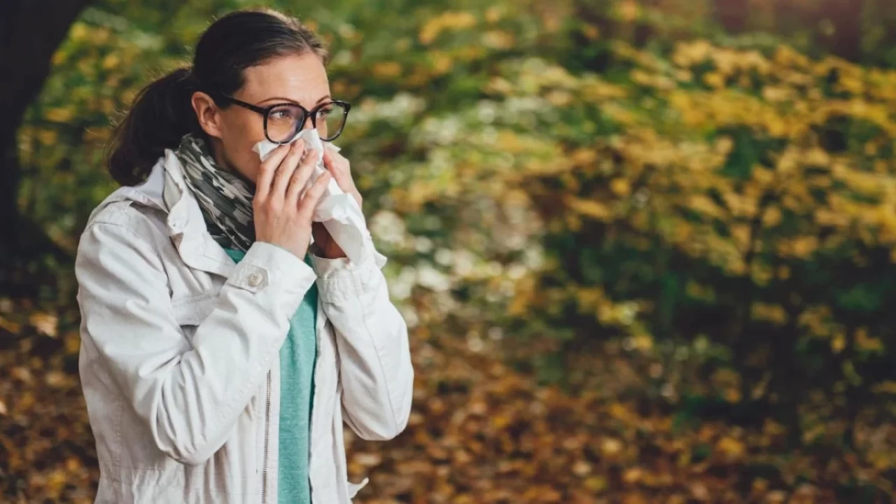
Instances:
[[[619,338],[664,363],[650,394],[765,405],[795,442],[809,414],[848,419],[847,443],[892,414],[896,73],[806,56],[817,27],[776,35],[798,18],[773,2],[767,34],[731,37],[687,0],[105,0],[21,128],[22,208],[73,246],[114,188],[116,113],[250,4],[331,43],[339,143],[411,326],[547,337],[559,380]],[[885,6],[864,43],[892,65]]]

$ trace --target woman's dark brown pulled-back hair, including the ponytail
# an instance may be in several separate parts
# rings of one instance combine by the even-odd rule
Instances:
[[[177,148],[187,133],[203,135],[190,103],[195,91],[212,99],[229,96],[243,87],[246,68],[308,52],[327,60],[323,40],[313,30],[272,9],[236,11],[211,23],[196,44],[192,68],[178,68],[147,85],[116,125],[107,152],[112,178],[122,186],[139,184],[165,149]]]

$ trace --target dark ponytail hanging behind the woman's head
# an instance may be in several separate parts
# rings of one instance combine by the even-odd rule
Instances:
[[[137,94],[108,144],[108,170],[118,184],[140,184],[165,149],[177,148],[187,133],[201,133],[190,103],[196,88],[190,70],[182,67]]]

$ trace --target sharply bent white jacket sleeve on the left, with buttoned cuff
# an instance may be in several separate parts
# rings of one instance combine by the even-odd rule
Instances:
[[[138,215],[92,223],[82,235],[75,260],[82,344],[108,369],[159,449],[202,464],[263,384],[314,270],[281,248],[255,243],[188,340],[153,247],[160,233]]]

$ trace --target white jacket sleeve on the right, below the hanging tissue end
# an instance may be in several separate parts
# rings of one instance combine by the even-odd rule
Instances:
[[[374,252],[360,264],[311,258],[335,328],[345,421],[362,439],[392,439],[408,424],[414,369],[408,327],[380,270],[385,257]]]

